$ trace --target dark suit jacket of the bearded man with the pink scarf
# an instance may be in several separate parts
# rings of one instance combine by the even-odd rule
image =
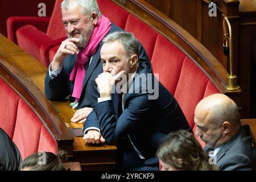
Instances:
[[[111,29],[108,34],[115,31],[123,30],[112,23]],[[100,44],[100,46],[98,47],[97,52],[93,55],[93,59],[88,69],[86,69],[83,90],[78,106],[79,109],[82,107],[91,107],[92,104],[97,102],[97,98],[100,97],[100,94],[97,91],[95,79],[100,73],[103,72],[102,63],[100,60],[101,47],[102,44]],[[141,61],[141,64],[146,64],[148,68],[152,70],[147,53],[141,46],[141,44],[139,44],[139,53],[139,61]],[[75,65],[75,61],[76,55],[68,55],[64,59],[63,70],[61,71],[60,75],[56,76],[51,80],[51,78],[49,77],[49,73],[46,74],[46,78],[44,80],[44,93],[49,100],[64,100],[64,98],[72,94],[74,81],[69,80],[69,74],[71,73],[73,66]],[[85,68],[86,66],[87,65],[85,65]],[[71,101],[73,101],[73,98],[71,98]]]

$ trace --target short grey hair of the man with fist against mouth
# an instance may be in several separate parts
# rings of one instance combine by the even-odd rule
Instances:
[[[134,54],[139,56],[139,42],[135,38],[135,36],[130,32],[125,32],[125,31],[113,32],[102,40],[103,43],[115,42],[115,41],[119,41],[123,45],[123,47],[126,50],[127,56],[130,57]]]

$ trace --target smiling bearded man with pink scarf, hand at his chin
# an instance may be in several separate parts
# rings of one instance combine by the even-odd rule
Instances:
[[[102,70],[101,41],[106,35],[123,31],[101,14],[96,0],[64,0],[61,14],[67,39],[64,40],[45,78],[45,94],[49,100],[69,97],[73,109],[78,109],[72,122],[84,123],[97,102],[99,93],[95,79]],[[144,48],[139,44],[140,64],[151,68]]]

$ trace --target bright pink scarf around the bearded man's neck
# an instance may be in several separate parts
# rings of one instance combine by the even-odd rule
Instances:
[[[96,53],[101,40],[104,39],[106,34],[108,34],[110,26],[110,20],[102,15],[101,18],[98,19],[98,23],[94,28],[92,37],[90,38],[90,42],[88,43],[84,51],[80,51],[76,57],[76,63],[72,69],[72,72],[69,75],[69,80],[75,80],[75,85],[72,93],[72,97],[76,98],[75,102],[79,101],[82,93],[82,84],[85,78],[84,65],[89,61],[90,56]]]

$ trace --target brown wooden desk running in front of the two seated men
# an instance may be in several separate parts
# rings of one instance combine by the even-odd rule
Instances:
[[[11,68],[18,68],[25,79],[27,79],[26,81],[35,86],[34,90],[28,91],[33,94],[39,90],[44,95],[44,77],[47,68],[2,34],[0,34],[0,63],[5,69],[11,70]],[[2,72],[0,76],[4,77]],[[16,77],[16,79],[22,81],[19,77]],[[12,86],[11,82],[8,82],[8,84]],[[45,98],[45,96],[43,97]],[[69,127],[70,129],[83,127],[80,123],[71,122],[71,118],[76,110],[73,110],[69,106],[69,101],[49,102],[54,107],[53,111],[55,112],[48,114],[55,115],[55,117],[57,115],[57,117],[61,118],[65,127]],[[47,110],[47,108],[44,109]],[[73,151],[69,152],[68,159],[70,162],[80,162],[82,170],[108,170],[114,166],[115,153],[117,151],[115,146],[109,146],[107,144],[84,144],[82,137],[73,137],[73,139]]]

